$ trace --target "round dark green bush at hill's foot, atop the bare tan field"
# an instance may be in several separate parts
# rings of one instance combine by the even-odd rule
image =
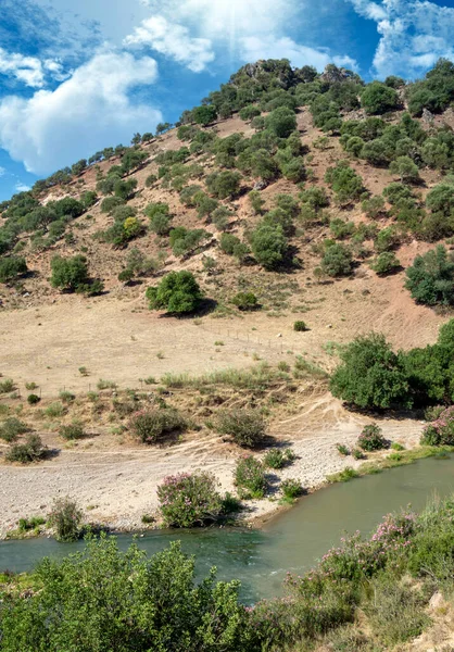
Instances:
[[[171,272],[157,287],[147,290],[150,310],[166,310],[169,313],[193,312],[202,300],[202,292],[191,272]]]

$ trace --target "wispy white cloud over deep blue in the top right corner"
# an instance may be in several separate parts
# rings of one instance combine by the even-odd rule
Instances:
[[[380,42],[374,68],[380,77],[418,76],[440,57],[454,58],[454,9],[428,0],[349,0],[355,11],[376,21]]]

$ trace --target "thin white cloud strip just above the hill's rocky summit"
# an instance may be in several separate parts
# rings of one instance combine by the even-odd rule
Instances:
[[[348,55],[332,55],[328,50],[301,46],[288,37],[260,38],[251,36],[241,39],[240,45],[243,61],[289,59],[294,66],[313,65],[318,71],[323,71],[328,63],[336,63],[336,65],[353,70],[357,68],[356,61]]]

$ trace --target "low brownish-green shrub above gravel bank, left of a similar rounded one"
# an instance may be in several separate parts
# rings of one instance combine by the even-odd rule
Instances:
[[[173,408],[141,410],[129,424],[133,434],[142,443],[159,443],[187,427],[187,419]]]

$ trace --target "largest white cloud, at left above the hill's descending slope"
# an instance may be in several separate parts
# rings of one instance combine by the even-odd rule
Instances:
[[[129,53],[103,52],[77,68],[55,90],[0,101],[0,147],[29,172],[48,174],[134,131],[153,130],[160,111],[133,103],[128,91],[150,85],[156,62]]]

